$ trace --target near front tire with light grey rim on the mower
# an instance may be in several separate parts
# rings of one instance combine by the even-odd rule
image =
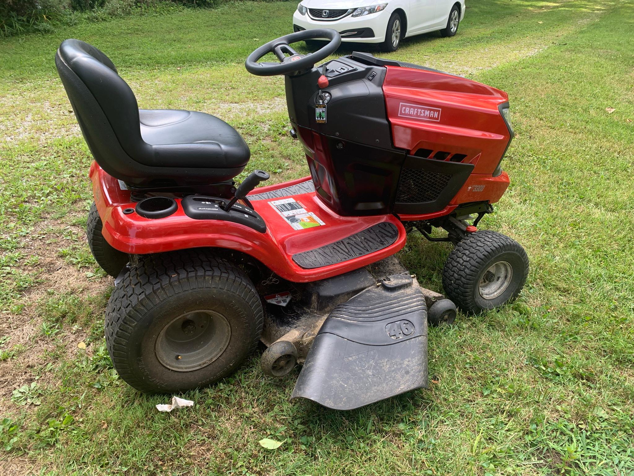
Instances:
[[[514,300],[528,275],[521,244],[491,230],[475,232],[456,244],[443,268],[443,287],[465,312],[477,313]]]

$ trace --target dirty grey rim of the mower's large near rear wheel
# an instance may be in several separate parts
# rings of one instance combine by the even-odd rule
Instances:
[[[191,372],[214,362],[229,345],[231,326],[222,315],[196,310],[172,319],[159,333],[154,352],[177,372]]]

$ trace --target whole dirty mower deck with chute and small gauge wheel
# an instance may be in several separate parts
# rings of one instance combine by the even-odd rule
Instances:
[[[423,289],[395,256],[307,284],[264,281],[262,370],[281,377],[303,364],[292,398],[339,410],[427,387]]]

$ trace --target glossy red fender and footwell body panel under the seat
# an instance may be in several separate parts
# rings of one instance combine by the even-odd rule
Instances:
[[[315,213],[324,225],[302,230],[292,228],[269,204],[269,200],[253,202],[254,209],[266,222],[265,233],[230,221],[194,220],[185,215],[181,199],[176,199],[178,210],[174,214],[159,219],[144,218],[136,213],[124,213],[125,209],[135,206],[130,200],[129,190],[123,189],[119,181],[105,173],[96,162],[91,166],[90,176],[94,201],[103,221],[103,237],[113,248],[131,255],[202,247],[233,249],[261,261],[288,281],[309,282],[382,260],[403,248],[406,241],[403,225],[395,216],[339,216],[328,209],[314,192],[295,195],[294,198],[308,211]],[[261,187],[254,192],[267,192],[306,180],[304,178]],[[296,253],[339,241],[385,221],[398,228],[399,236],[384,249],[342,263],[312,269],[302,268],[292,260]]]

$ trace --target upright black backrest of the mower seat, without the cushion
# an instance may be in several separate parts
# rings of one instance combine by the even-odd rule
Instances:
[[[139,162],[151,165],[152,151],[141,138],[132,89],[108,56],[84,41],[61,43],[55,65],[94,159],[110,175],[134,181]]]

